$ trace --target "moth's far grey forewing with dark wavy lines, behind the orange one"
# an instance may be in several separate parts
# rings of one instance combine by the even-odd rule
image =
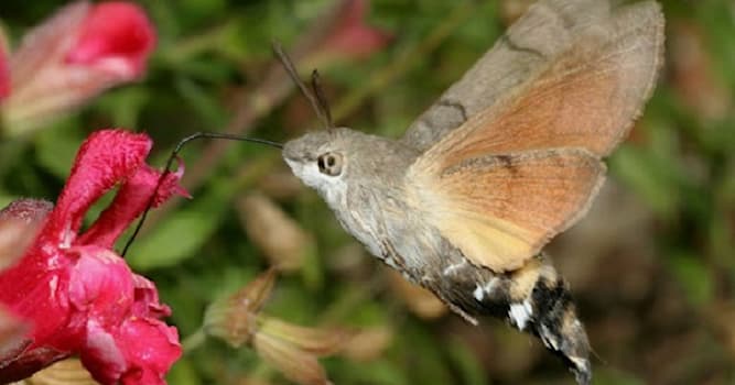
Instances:
[[[583,30],[610,19],[606,0],[538,1],[417,119],[402,141],[426,150],[468,117],[491,108],[566,52]]]

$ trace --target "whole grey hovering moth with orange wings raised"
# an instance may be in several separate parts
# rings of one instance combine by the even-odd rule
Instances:
[[[651,96],[663,25],[652,0],[538,1],[403,138],[332,128],[283,158],[372,255],[469,322],[538,336],[588,384],[584,327],[542,248],[587,211]]]

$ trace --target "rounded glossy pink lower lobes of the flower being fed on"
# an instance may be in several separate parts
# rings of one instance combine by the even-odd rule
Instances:
[[[69,297],[86,324],[79,339],[85,367],[102,384],[162,384],[181,346],[176,329],[158,320],[170,310],[158,302],[153,283],[109,250],[87,245],[72,252],[80,255]]]

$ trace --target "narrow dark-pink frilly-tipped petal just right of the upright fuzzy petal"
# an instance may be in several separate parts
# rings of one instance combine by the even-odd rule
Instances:
[[[184,174],[181,166],[175,173],[167,174],[161,185],[161,173],[143,164],[128,180],[120,186],[120,190],[112,204],[101,213],[99,219],[79,238],[80,244],[95,243],[111,248],[122,232],[148,207],[151,195],[155,190],[153,207],[158,207],[174,194],[185,195],[186,191],[179,185]]]

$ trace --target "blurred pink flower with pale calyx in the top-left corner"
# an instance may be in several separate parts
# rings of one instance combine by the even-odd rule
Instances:
[[[140,78],[154,46],[153,25],[133,3],[79,1],[62,8],[26,33],[11,55],[12,92],[2,103],[9,133],[36,129]]]

